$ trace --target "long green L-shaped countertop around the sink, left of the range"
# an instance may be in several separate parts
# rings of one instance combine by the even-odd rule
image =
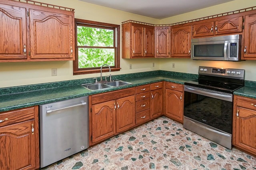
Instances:
[[[56,86],[52,88],[31,90],[31,91],[30,89],[26,89],[28,87],[24,87],[24,89],[26,89],[25,92],[19,91],[18,93],[10,93],[10,94],[0,93],[0,94],[3,94],[3,95],[0,95],[0,112],[20,109],[20,108],[30,107],[35,105],[42,105],[45,103],[52,103],[56,101],[66,100],[66,99],[73,99],[76,97],[104,93],[108,91],[115,91],[115,90],[125,89],[129,87],[136,87],[136,86],[145,85],[149,83],[156,83],[159,81],[170,81],[174,83],[184,84],[184,82],[186,81],[195,79],[195,75],[182,77],[179,74],[176,75],[172,73],[172,74],[166,75],[159,72],[157,73],[154,72],[154,74],[152,75],[150,73],[146,75],[137,76],[137,77],[120,75],[119,77],[116,76],[114,78],[121,79],[122,81],[128,81],[132,84],[120,86],[120,87],[112,87],[109,89],[102,89],[97,91],[90,91],[88,89],[85,89],[84,87],[81,86],[81,84],[83,83],[76,84],[77,82],[74,83],[76,85],[68,85],[64,87]],[[84,83],[88,83],[88,82],[84,82]],[[58,83],[56,83],[56,85],[58,85]],[[33,88],[31,87],[31,89]],[[6,91],[8,89],[4,88],[3,91],[4,90]],[[0,92],[1,92],[1,89],[0,89]]]

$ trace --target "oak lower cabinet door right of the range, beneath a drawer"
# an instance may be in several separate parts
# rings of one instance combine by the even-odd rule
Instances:
[[[236,112],[238,112],[238,116]],[[236,107],[233,121],[235,129],[233,144],[256,154],[256,111]]]

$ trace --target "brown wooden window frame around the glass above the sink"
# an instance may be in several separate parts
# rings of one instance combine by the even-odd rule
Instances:
[[[108,24],[104,22],[96,22],[90,20],[82,20],[75,18],[75,59],[73,61],[73,75],[100,73],[100,67],[79,68],[78,67],[78,46],[77,46],[77,26],[92,26],[96,28],[110,28],[114,30],[114,47],[115,51],[115,66],[111,66],[111,71],[120,71],[120,25]],[[80,46],[79,46],[80,47]],[[108,67],[102,67],[102,72],[108,72]]]

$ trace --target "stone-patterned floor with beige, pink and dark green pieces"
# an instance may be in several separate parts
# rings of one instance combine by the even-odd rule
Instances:
[[[160,117],[44,170],[256,170],[256,158]]]

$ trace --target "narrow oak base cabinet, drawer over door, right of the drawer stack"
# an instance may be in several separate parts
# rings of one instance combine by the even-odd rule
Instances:
[[[163,82],[150,85],[150,119],[163,114]]]

